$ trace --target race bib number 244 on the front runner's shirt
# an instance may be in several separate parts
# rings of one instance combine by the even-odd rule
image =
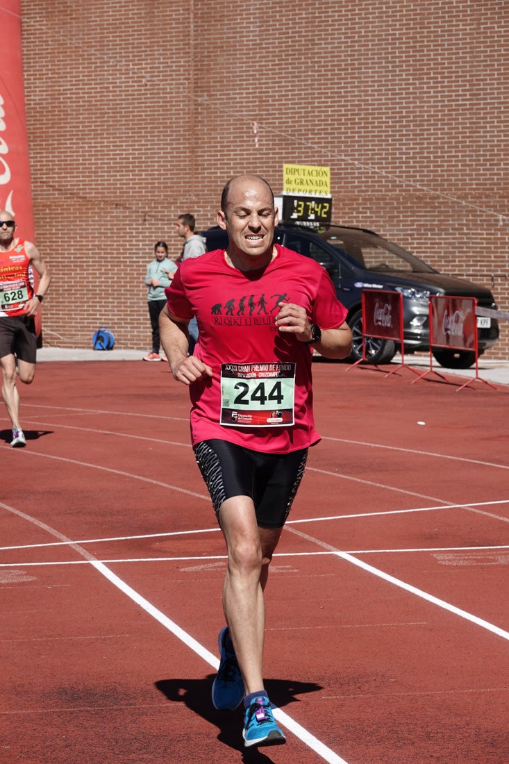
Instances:
[[[295,364],[221,365],[222,425],[293,425],[294,402]]]

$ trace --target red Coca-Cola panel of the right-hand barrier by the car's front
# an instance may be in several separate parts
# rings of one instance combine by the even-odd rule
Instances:
[[[430,345],[477,350],[475,297],[430,297]]]

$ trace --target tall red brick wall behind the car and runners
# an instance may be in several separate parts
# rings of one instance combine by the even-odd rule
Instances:
[[[335,222],[509,309],[503,3],[21,5],[46,345],[87,347],[106,324],[148,349],[155,241],[180,250],[180,212],[213,225],[236,173],[279,192],[284,163],[331,168]],[[488,357],[509,357],[508,326]]]

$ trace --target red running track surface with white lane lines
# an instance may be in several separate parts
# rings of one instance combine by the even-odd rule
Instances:
[[[5,764],[509,762],[509,388],[316,362],[267,587],[287,745],[219,713],[222,539],[166,364],[40,364],[2,414]],[[459,383],[458,383],[459,384]]]

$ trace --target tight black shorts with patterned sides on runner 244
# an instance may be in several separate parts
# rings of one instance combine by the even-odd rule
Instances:
[[[249,496],[258,526],[282,528],[306,466],[307,448],[289,454],[263,454],[225,440],[194,446],[199,471],[209,489],[216,516],[226,499]]]

